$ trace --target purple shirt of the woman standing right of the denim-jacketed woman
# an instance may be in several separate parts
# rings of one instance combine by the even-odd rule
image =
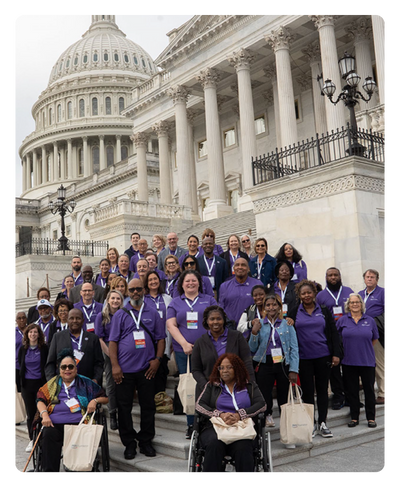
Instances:
[[[309,314],[303,304],[297,310],[295,324],[299,343],[300,359],[316,359],[329,356],[329,347],[325,335],[325,316],[321,307],[315,304]]]

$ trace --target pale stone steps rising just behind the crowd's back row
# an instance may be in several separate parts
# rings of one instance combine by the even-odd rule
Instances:
[[[257,235],[254,212],[253,210],[246,210],[245,212],[237,212],[221,217],[220,219],[198,222],[194,226],[178,233],[178,245],[187,248],[186,242],[189,236],[195,234],[201,239],[201,235],[206,228],[211,228],[215,232],[215,242],[221,245],[224,251],[227,249],[226,242],[231,234],[237,234],[239,238],[245,233],[253,238]]]

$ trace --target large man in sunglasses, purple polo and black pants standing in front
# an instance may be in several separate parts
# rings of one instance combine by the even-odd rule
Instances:
[[[144,302],[141,280],[128,284],[130,303],[119,309],[110,329],[109,352],[112,374],[116,383],[119,435],[125,446],[124,456],[136,456],[136,439],[140,452],[154,457],[151,445],[155,435],[155,375],[165,349],[165,327],[155,307]],[[132,423],[135,389],[140,404],[140,431]]]

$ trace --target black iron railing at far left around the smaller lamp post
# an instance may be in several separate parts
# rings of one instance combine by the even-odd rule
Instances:
[[[68,240],[68,247],[67,255],[105,257],[108,250],[108,241]],[[62,255],[62,253],[59,241],[50,238],[29,238],[12,246],[13,258],[22,255]]]

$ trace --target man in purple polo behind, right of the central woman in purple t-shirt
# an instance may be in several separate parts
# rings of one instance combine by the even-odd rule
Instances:
[[[236,259],[233,265],[234,277],[222,283],[219,289],[219,305],[236,325],[243,311],[254,303],[251,295],[253,286],[264,286],[260,280],[249,277],[249,270],[246,259]]]

